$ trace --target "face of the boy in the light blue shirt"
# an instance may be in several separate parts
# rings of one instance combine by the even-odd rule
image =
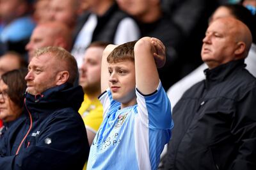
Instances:
[[[109,88],[113,100],[124,107],[136,104],[134,62],[125,60],[109,63]]]

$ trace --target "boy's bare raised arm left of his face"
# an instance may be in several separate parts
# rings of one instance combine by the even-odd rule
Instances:
[[[103,51],[102,54],[102,61],[101,61],[101,75],[100,75],[100,86],[101,86],[101,93],[108,89],[108,81],[109,81],[109,72],[108,72],[108,62],[107,58],[110,52],[112,52],[115,47],[118,45],[109,44]]]

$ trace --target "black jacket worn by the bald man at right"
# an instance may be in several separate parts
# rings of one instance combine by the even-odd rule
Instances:
[[[244,60],[205,70],[173,108],[164,169],[256,169],[256,79]]]

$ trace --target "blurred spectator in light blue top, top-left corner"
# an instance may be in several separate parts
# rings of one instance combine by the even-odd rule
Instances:
[[[1,49],[15,50],[26,54],[25,45],[35,27],[33,19],[28,15],[29,4],[26,0],[0,0],[0,32]]]

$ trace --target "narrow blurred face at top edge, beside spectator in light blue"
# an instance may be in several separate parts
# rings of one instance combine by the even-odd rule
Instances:
[[[36,23],[47,22],[51,19],[50,9],[49,9],[50,2],[51,0],[35,1],[35,4],[34,4],[35,11],[33,13],[33,18],[36,21]]]

